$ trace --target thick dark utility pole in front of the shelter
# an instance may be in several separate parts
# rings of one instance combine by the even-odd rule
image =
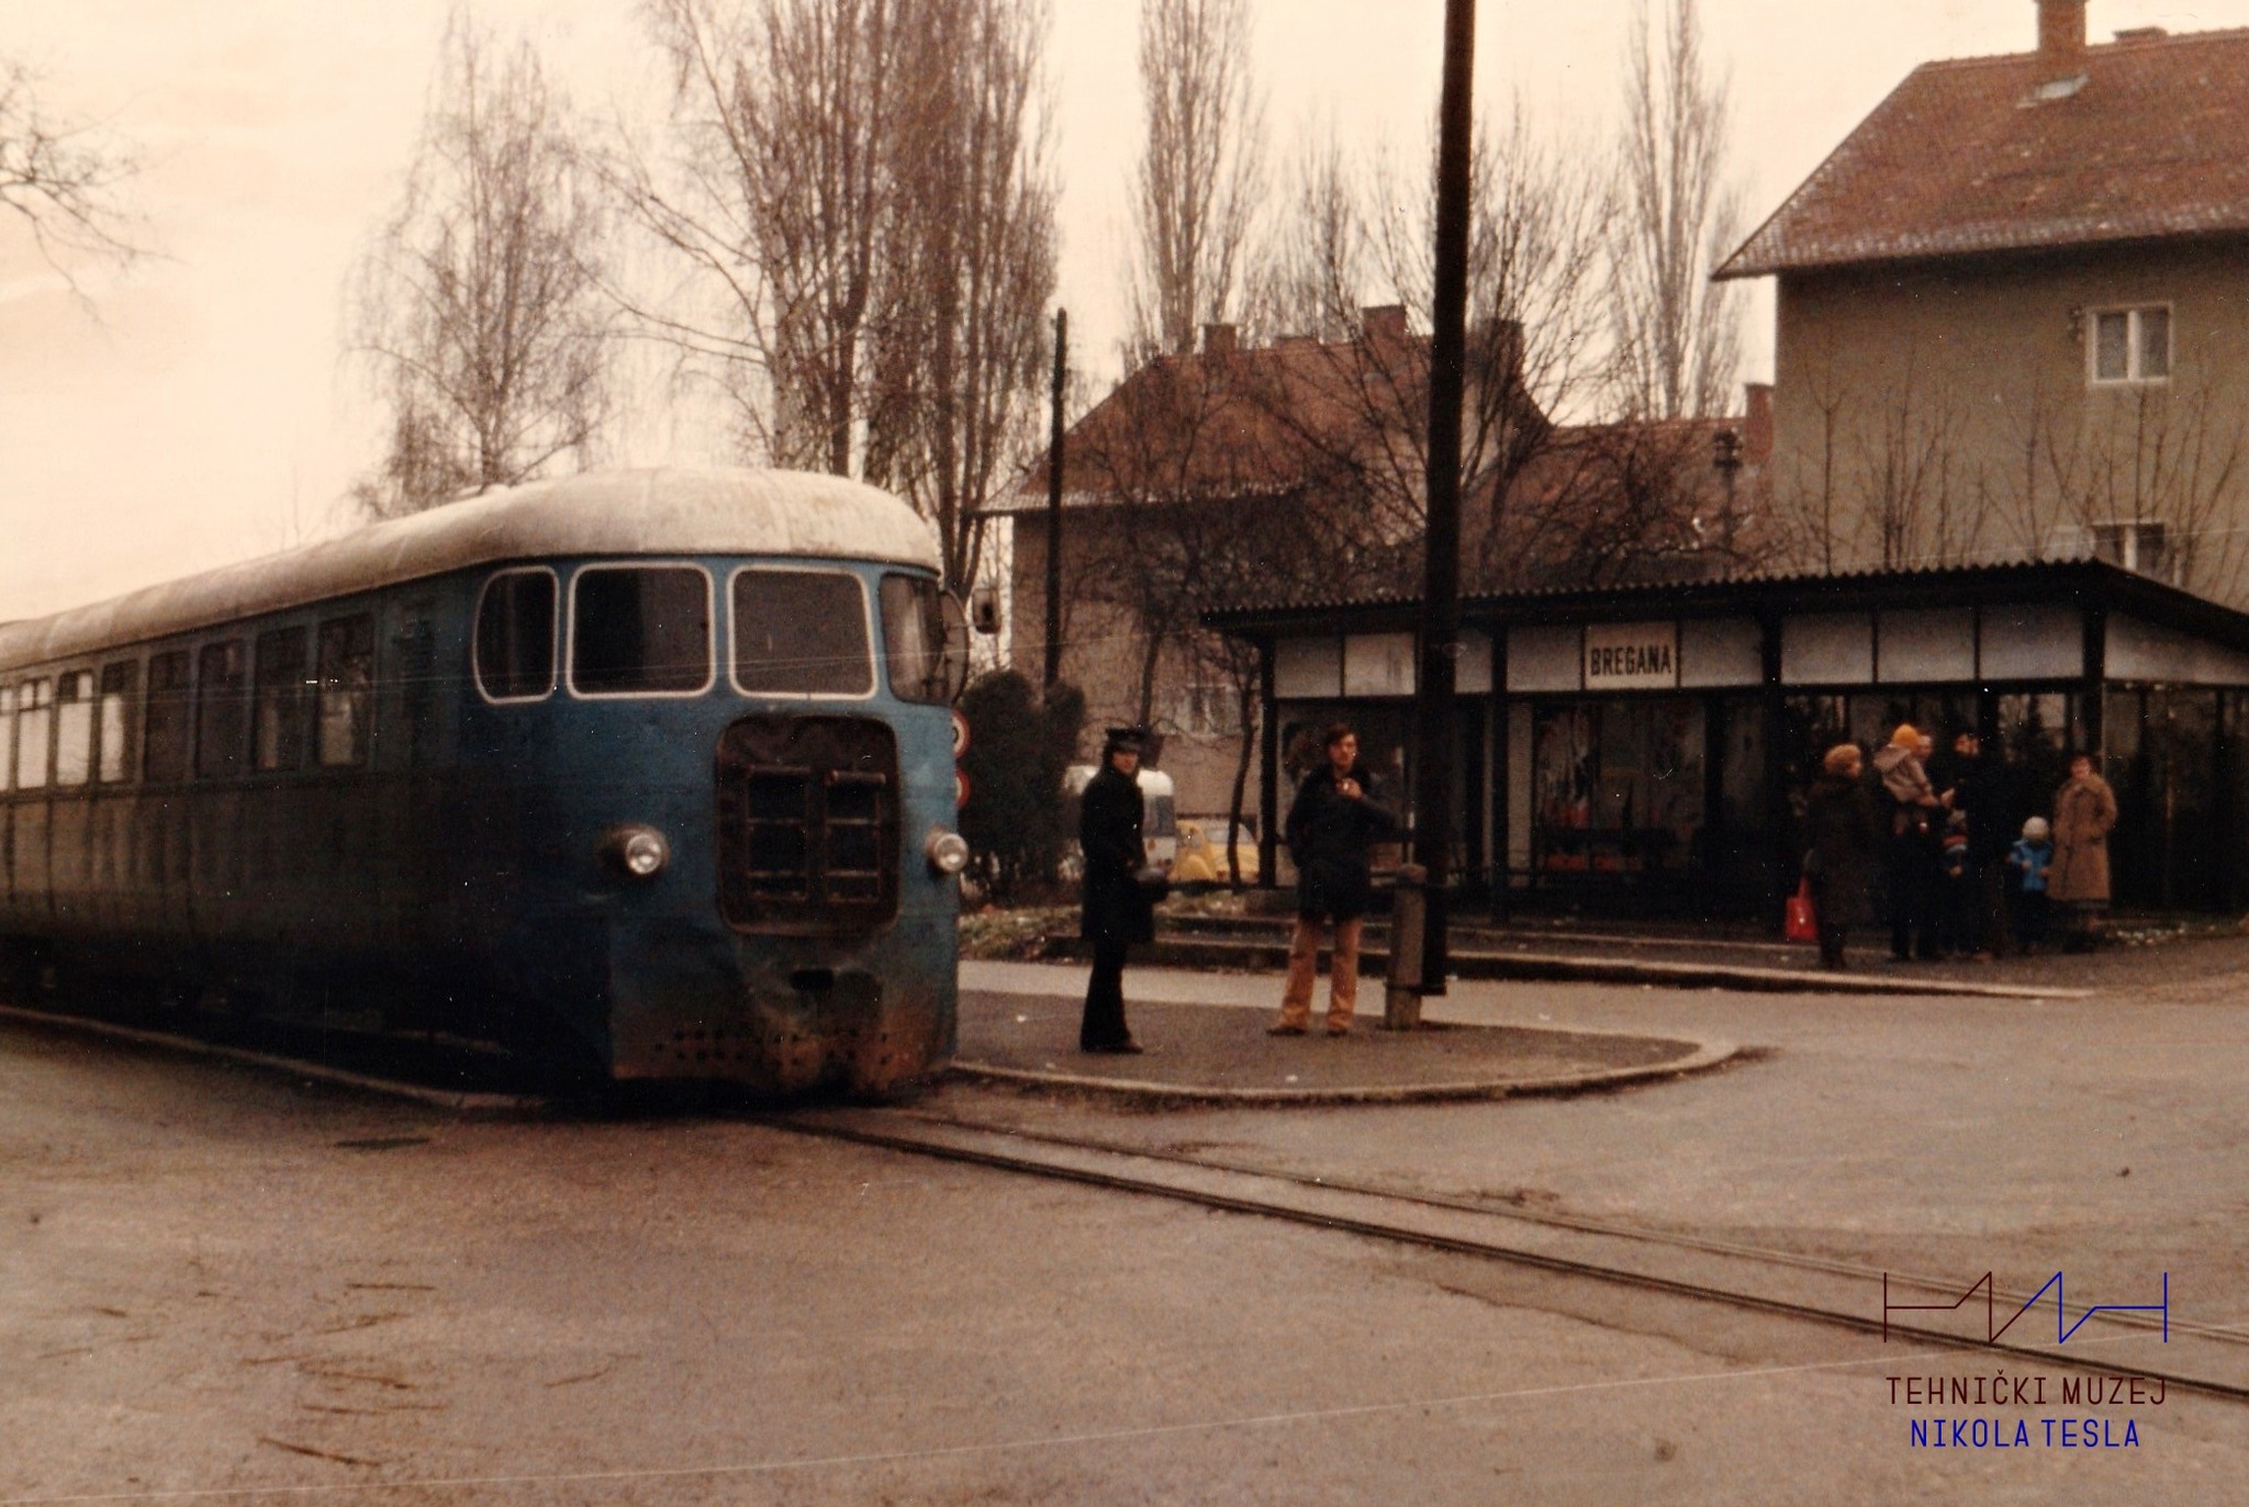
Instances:
[[[1469,137],[1475,112],[1475,0],[1444,4],[1444,97],[1437,106],[1437,288],[1428,353],[1428,535],[1421,675],[1417,679],[1415,861],[1428,873],[1421,994],[1444,994],[1446,895],[1453,879],[1453,688],[1460,666],[1460,405],[1466,389]]]

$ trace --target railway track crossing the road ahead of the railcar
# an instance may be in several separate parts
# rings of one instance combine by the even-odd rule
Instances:
[[[2141,1377],[2182,1392],[2249,1401],[2249,1332],[2175,1314],[2098,1311],[2085,1318],[2067,1343],[2060,1338],[2042,1343],[2035,1334],[2053,1309],[2040,1302],[1997,1341],[1988,1341],[1981,1289],[1972,1302],[1961,1302],[1952,1311],[1916,1311],[1900,1318],[1891,1309],[1885,1325],[1880,1269],[1792,1251],[1572,1215],[1493,1208],[1471,1199],[1412,1194],[1176,1152],[1035,1136],[906,1109],[796,1109],[758,1118],[805,1136],[1282,1219],[1853,1334],[1882,1334],[1887,1327],[1891,1341],[1981,1352],[1997,1356],[2006,1368],[2038,1363],[2071,1372]],[[1891,1305],[1943,1305],[1959,1298],[1972,1278],[1975,1273],[1954,1280],[1891,1271],[1887,1293]],[[2177,1284],[2170,1291],[2177,1291]],[[1995,1287],[1990,1298],[2004,1323],[2033,1293]],[[2103,1298],[2139,1300],[2130,1293],[2103,1293]]]

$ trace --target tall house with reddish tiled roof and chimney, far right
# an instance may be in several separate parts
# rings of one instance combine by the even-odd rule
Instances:
[[[2026,18],[2029,20],[2029,18]],[[2249,31],[1927,63],[1718,277],[1777,277],[1804,565],[2098,551],[2242,594]]]

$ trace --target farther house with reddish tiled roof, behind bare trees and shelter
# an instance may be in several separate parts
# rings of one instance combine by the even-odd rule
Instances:
[[[1765,389],[1752,389],[1747,421],[1554,425],[1523,391],[1511,333],[1471,340],[1471,364],[1505,373],[1484,421],[1466,425],[1482,434],[1482,475],[1462,499],[1471,592],[1707,574],[1696,556],[1745,542],[1734,517],[1761,497]],[[1237,686],[1205,652],[1223,641],[1194,625],[1201,612],[1419,585],[1426,373],[1428,340],[1399,306],[1363,310],[1334,342],[1246,344],[1208,326],[1201,351],[1127,373],[1071,427],[1062,675],[1095,724],[1138,718],[1154,675],[1149,720],[1183,812],[1223,810],[1239,758]],[[1017,666],[1044,659],[1046,495],[1041,461],[996,511],[1014,522]],[[1176,628],[1156,659],[1149,610]]]

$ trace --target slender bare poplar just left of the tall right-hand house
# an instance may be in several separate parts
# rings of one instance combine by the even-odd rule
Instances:
[[[1696,0],[1640,0],[1626,43],[1622,234],[1610,254],[1615,405],[1637,418],[1723,414],[1741,367],[1732,283],[1709,270],[1738,238],[1727,182],[1725,74],[1702,56]]]

